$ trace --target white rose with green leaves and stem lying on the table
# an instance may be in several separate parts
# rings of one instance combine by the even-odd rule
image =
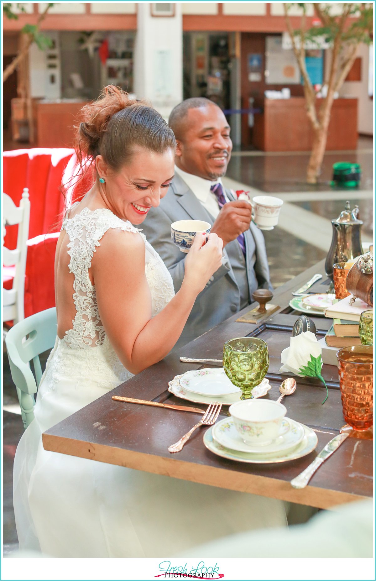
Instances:
[[[290,346],[281,353],[281,363],[281,373],[292,372],[300,377],[317,377],[320,379],[327,389],[327,397],[322,403],[327,401],[328,388],[325,379],[321,375],[323,360],[321,359],[321,347],[317,343],[316,335],[306,331],[296,335],[296,337],[291,337]]]

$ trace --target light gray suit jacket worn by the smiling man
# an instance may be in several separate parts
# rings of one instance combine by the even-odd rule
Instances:
[[[230,200],[234,199],[230,191],[226,190],[226,193]],[[213,216],[210,216],[205,210],[182,178],[176,175],[166,196],[160,200],[160,206],[149,210],[148,216],[142,224],[142,231],[146,235],[146,239],[159,253],[170,271],[175,292],[180,289],[184,278],[186,254],[180,252],[177,246],[171,242],[171,224],[176,220],[189,218],[205,220],[210,224],[214,223]],[[246,249],[251,243],[252,248],[254,245],[256,246],[255,274],[259,288],[271,288],[264,236],[253,223],[244,234]],[[241,298],[239,286],[226,251],[230,244],[238,245],[238,241],[235,239],[225,246],[223,252],[227,262],[214,272],[212,280],[207,283],[205,289],[197,297],[177,343],[178,346],[197,338],[239,311]],[[246,252],[244,275],[248,280],[250,269],[252,269],[251,259],[252,257],[248,256],[248,252]],[[249,297],[249,302],[252,302],[251,299],[252,297]]]

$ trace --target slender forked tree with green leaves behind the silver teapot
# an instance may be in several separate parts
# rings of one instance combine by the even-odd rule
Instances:
[[[300,28],[294,30],[289,16],[293,6],[284,3],[287,30],[291,37],[292,49],[298,62],[303,80],[307,116],[313,129],[313,144],[307,166],[307,182],[316,184],[327,144],[328,126],[334,95],[342,87],[345,78],[356,59],[361,42],[370,44],[373,33],[373,5],[336,3],[341,10],[332,15],[330,4],[313,3],[318,26],[307,26],[307,4],[298,3],[302,9]],[[295,4],[297,6],[297,4]],[[338,10],[337,10],[338,12]],[[325,71],[324,85],[327,94],[318,99],[306,69],[306,46],[330,46],[330,58]]]

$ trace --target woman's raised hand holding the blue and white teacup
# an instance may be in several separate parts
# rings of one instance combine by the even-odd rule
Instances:
[[[217,234],[196,235],[185,259],[183,285],[188,284],[196,294],[200,293],[210,277],[222,264],[223,241]]]

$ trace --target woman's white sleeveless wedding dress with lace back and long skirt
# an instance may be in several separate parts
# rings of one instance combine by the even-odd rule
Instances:
[[[51,557],[161,557],[231,532],[285,525],[284,504],[277,500],[44,450],[42,432],[131,377],[101,324],[88,268],[109,228],[139,231],[110,210],[87,208],[66,218],[63,228],[77,313],[73,328],[56,338],[35,419],[16,451],[13,503],[20,549]],[[173,282],[140,235],[155,315],[173,297]]]

